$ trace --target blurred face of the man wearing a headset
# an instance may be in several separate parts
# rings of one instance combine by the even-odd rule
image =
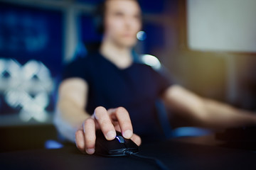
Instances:
[[[134,0],[108,0],[105,10],[105,38],[121,47],[132,47],[142,28],[141,9]]]

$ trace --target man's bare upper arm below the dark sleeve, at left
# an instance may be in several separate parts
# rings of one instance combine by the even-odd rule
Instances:
[[[61,82],[58,94],[58,101],[72,101],[79,108],[85,108],[87,103],[88,84],[80,78],[65,79]]]

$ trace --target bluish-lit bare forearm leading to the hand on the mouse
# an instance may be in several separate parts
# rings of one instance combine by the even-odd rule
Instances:
[[[72,101],[63,99],[58,102],[54,124],[63,137],[75,142],[76,130],[89,117],[90,115],[83,108],[76,106]]]

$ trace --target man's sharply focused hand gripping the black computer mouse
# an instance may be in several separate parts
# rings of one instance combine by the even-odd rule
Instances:
[[[101,129],[107,140],[114,140],[117,130],[138,146],[142,142],[141,138],[133,133],[129,113],[122,107],[111,108],[108,111],[102,106],[95,108],[95,113],[75,132],[75,144],[81,152],[95,152],[96,129]]]

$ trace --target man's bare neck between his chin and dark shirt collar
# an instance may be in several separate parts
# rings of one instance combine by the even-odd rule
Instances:
[[[125,69],[132,64],[132,52],[130,47],[121,47],[112,42],[104,41],[100,46],[101,54],[120,69]]]

